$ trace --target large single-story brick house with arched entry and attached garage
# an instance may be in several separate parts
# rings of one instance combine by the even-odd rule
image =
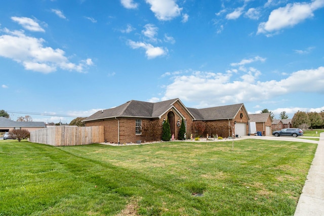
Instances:
[[[180,99],[156,103],[128,101],[111,109],[94,113],[84,119],[85,126],[104,126],[104,139],[111,143],[160,141],[163,122],[168,119],[171,134],[178,139],[181,120],[184,119],[187,138],[217,135],[232,137],[248,133],[250,120],[244,104],[187,108]]]

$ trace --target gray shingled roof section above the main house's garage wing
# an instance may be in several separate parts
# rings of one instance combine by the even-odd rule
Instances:
[[[233,104],[204,109],[188,108],[196,120],[233,119],[243,104]]]

